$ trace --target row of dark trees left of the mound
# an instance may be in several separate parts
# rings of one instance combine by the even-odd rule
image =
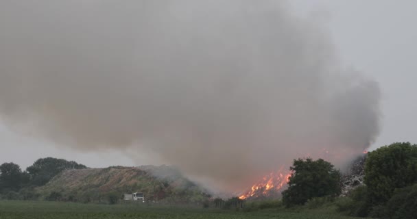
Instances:
[[[46,157],[36,160],[32,166],[21,170],[18,164],[0,165],[0,198],[36,199],[34,188],[48,183],[63,170],[87,168],[77,162]]]

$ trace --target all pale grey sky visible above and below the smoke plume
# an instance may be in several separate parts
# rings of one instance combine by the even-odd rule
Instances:
[[[294,13],[318,19],[331,32],[333,44],[344,66],[355,68],[379,82],[382,92],[382,127],[370,146],[392,142],[417,142],[417,14],[414,1],[291,1]],[[0,163],[14,162],[25,168],[40,157],[75,160],[90,167],[161,164],[140,156],[132,161],[126,151],[99,152],[57,147],[36,136],[16,133],[0,125]],[[128,149],[123,149],[128,150]]]

